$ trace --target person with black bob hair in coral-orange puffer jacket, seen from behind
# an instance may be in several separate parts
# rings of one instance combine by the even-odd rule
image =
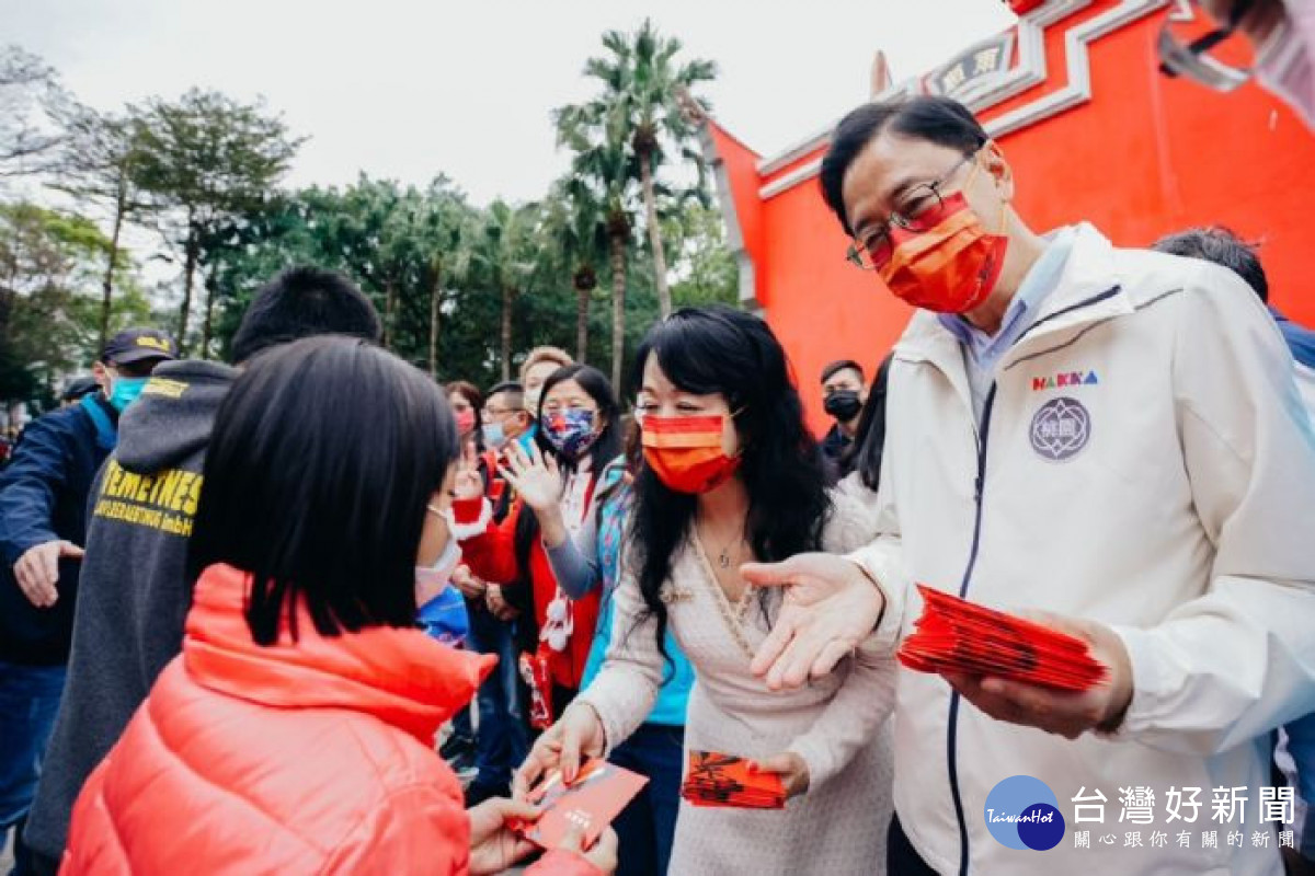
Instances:
[[[416,628],[421,580],[460,556],[456,441],[442,390],[377,347],[252,360],[210,437],[183,653],[87,780],[62,872],[493,873],[531,851],[506,821],[534,809],[467,812],[434,751],[493,662]],[[200,485],[143,478],[142,525]]]

